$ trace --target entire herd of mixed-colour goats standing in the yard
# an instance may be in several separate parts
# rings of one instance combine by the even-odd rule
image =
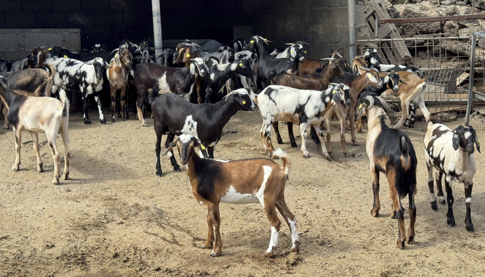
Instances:
[[[300,127],[301,152],[308,158],[307,127],[318,139],[322,155],[331,160],[330,122],[336,116],[340,122],[342,151],[346,150],[345,129],[350,122],[351,141],[358,145],[355,129],[361,131],[367,121],[366,152],[373,177],[374,204],[372,216],[379,215],[379,176],[386,174],[392,199],[392,218],[398,220],[397,247],[405,242],[414,243],[416,220],[416,167],[417,158],[411,140],[399,131],[405,122],[413,127],[416,107],[426,118],[424,146],[429,172],[428,185],[431,207],[436,202],[445,204],[441,187],[444,174],[447,192],[447,223],[454,227],[451,182],[463,182],[466,196],[466,230],[474,231],[470,217],[473,176],[476,171],[474,144],[480,152],[480,143],[472,126],[460,125],[451,130],[439,119],[431,117],[424,104],[426,77],[415,68],[381,64],[376,49],[366,49],[356,56],[351,66],[338,51],[330,58],[316,60],[306,55],[304,43],[294,42],[282,52],[269,53],[264,44],[268,41],[253,36],[249,43],[239,39],[234,47],[221,46],[209,53],[194,41],[184,41],[175,51],[164,49],[162,65],[153,63],[155,57],[150,43],[140,46],[125,41],[113,50],[111,60],[104,61],[97,55],[81,61],[79,54],[62,47],[38,47],[32,55],[21,61],[0,61],[0,96],[4,104],[4,129],[12,125],[15,135],[16,159],[12,170],[20,165],[21,132],[29,131],[37,155],[37,170],[43,171],[37,133],[46,133],[54,159],[53,184],[59,183],[59,153],[56,149],[57,134],[64,143],[63,178],[69,177],[68,119],[69,101],[65,90],[81,91],[83,117],[88,116],[89,95],[94,95],[99,109],[99,119],[105,123],[99,97],[103,85],[103,71],[111,87],[111,106],[115,121],[116,111],[123,120],[128,118],[128,92],[130,75],[138,93],[137,114],[146,126],[145,105],[151,106],[156,133],[156,174],[162,176],[160,165],[161,139],[167,135],[166,151],[175,171],[180,171],[173,148],[177,147],[180,161],[187,167],[187,175],[195,199],[207,207],[208,236],[203,248],[212,248],[211,256],[222,253],[219,231],[219,203],[260,203],[271,223],[271,240],[266,256],[272,256],[278,243],[281,222],[276,209],[291,230],[291,251],[297,252],[300,241],[296,231],[295,216],[285,203],[285,183],[289,176],[290,159],[280,148],[274,149],[271,129],[274,127],[281,144],[278,122],[288,124],[291,147],[296,147],[293,123]],[[98,52],[98,51],[97,51]],[[107,51],[105,51],[107,52]],[[95,53],[99,54],[102,52]],[[135,58],[136,57],[136,58]],[[134,62],[137,60],[137,62]],[[150,62],[151,61],[151,62]],[[24,69],[31,68],[31,69]],[[24,70],[22,70],[24,69]],[[7,72],[13,71],[13,72]],[[258,82],[262,91],[258,94]],[[237,86],[242,87],[236,89]],[[226,95],[221,97],[226,88]],[[205,93],[202,93],[205,89]],[[120,91],[117,106],[116,91]],[[171,92],[171,93],[168,93]],[[33,96],[55,97],[33,97]],[[388,112],[395,112],[393,105],[384,100],[399,100],[402,116],[390,127]],[[205,103],[202,103],[205,102]],[[215,102],[215,103],[211,103]],[[283,165],[271,159],[246,159],[237,161],[215,160],[214,147],[221,139],[222,129],[239,110],[259,107],[263,118],[260,136],[272,158],[279,157]],[[392,108],[391,108],[392,106]],[[8,112],[6,111],[8,109]],[[357,121],[354,126],[354,119]],[[323,129],[327,136],[324,138]],[[174,141],[175,136],[178,139]],[[198,155],[194,154],[198,149]],[[436,173],[437,199],[434,192],[433,168]],[[404,208],[401,199],[409,198],[410,224],[406,234]]]

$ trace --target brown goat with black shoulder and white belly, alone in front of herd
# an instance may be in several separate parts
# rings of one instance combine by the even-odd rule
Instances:
[[[207,207],[209,232],[202,248],[212,248],[210,256],[222,254],[222,240],[219,231],[219,203],[260,203],[271,223],[271,240],[265,255],[271,257],[278,245],[281,221],[276,209],[285,219],[291,231],[290,251],[298,252],[300,240],[296,231],[296,219],[285,202],[285,184],[288,179],[290,158],[281,149],[273,153],[281,158],[283,165],[270,159],[245,159],[221,161],[203,159],[194,153],[200,142],[191,135],[181,135],[170,143],[165,154],[178,147],[180,161],[187,167],[187,175],[195,200]],[[164,155],[165,155],[164,154]]]

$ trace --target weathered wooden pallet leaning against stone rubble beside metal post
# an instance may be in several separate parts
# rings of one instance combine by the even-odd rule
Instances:
[[[392,23],[377,23],[376,26],[376,17],[379,19],[390,19],[384,5],[378,0],[373,0],[372,7],[365,13],[365,21],[372,31],[371,39],[393,40],[378,44],[382,62],[384,64],[404,64],[405,60],[411,59],[411,53],[404,45],[404,41],[402,41],[402,37],[397,31],[396,25]],[[378,30],[379,36],[376,36],[376,30]]]

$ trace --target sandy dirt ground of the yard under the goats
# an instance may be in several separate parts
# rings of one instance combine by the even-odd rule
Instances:
[[[13,133],[0,130],[0,276],[485,276],[485,156],[475,154],[475,232],[465,230],[462,184],[453,186],[456,227],[448,227],[447,207],[438,205],[434,212],[430,206],[423,122],[402,128],[418,155],[416,244],[404,250],[395,247],[397,221],[389,217],[385,178],[381,216],[370,214],[367,134],[357,135],[360,146],[348,145],[352,157],[344,158],[334,132],[335,158],[329,162],[312,141],[307,142],[311,157],[304,159],[299,147],[291,148],[286,125],[280,125],[280,146],[292,158],[286,200],[296,216],[301,246],[298,254],[288,252],[290,230],[282,224],[279,248],[270,259],[263,256],[270,225],[259,204],[222,203],[223,256],[212,258],[210,250],[201,249],[207,237],[206,208],[194,200],[185,168],[174,172],[163,157],[164,177],[155,175],[155,133],[149,117],[148,128],[140,127],[134,116],[101,125],[93,111],[91,119],[93,124],[86,126],[79,113],[71,115],[72,179],[60,185],[50,183],[53,165],[45,142],[41,155],[46,171],[35,171],[28,133],[23,133],[21,170],[13,172]],[[453,129],[463,122],[448,125]],[[471,123],[484,139],[483,118]],[[267,157],[260,127],[258,111],[235,115],[215,158]],[[337,130],[338,123],[332,128]],[[46,140],[43,134],[39,137]],[[62,153],[60,138],[58,145]],[[403,205],[407,227],[407,200]]]

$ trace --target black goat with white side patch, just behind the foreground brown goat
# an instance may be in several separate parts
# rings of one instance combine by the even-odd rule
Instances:
[[[156,174],[160,177],[160,143],[163,135],[167,135],[165,147],[169,146],[175,136],[192,135],[200,140],[200,155],[214,158],[214,147],[221,139],[222,129],[229,119],[240,110],[254,110],[254,102],[251,99],[254,98],[254,94],[244,89],[229,92],[225,101],[215,104],[194,104],[172,93],[165,93],[156,98],[154,96],[154,93],[150,92],[148,102],[151,103],[156,133]],[[174,170],[180,171],[173,152],[169,156]]]

